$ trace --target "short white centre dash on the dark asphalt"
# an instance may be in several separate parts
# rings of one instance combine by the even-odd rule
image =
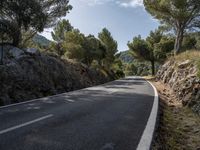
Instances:
[[[39,122],[39,121],[41,121],[41,120],[44,120],[44,119],[47,119],[47,118],[50,118],[50,117],[53,117],[53,115],[50,114],[50,115],[47,115],[47,116],[44,116],[44,117],[41,117],[41,118],[38,118],[38,119],[35,119],[35,120],[32,120],[32,121],[29,121],[29,122],[26,122],[26,123],[23,123],[23,124],[14,126],[14,127],[10,127],[10,128],[8,128],[8,129],[5,129],[5,130],[0,131],[0,135],[1,135],[1,134],[4,134],[4,133],[7,133],[7,132],[10,132],[10,131],[13,131],[13,130],[16,130],[16,129],[18,129],[18,128],[22,128],[22,127],[24,127],[24,126],[28,126],[28,125],[30,125],[30,124]]]

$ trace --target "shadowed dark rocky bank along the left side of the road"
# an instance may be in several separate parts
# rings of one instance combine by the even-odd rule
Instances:
[[[111,80],[101,71],[36,50],[9,47],[4,56],[4,65],[0,65],[0,105],[77,90]]]

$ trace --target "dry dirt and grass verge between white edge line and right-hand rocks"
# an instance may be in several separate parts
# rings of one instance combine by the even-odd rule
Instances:
[[[200,150],[200,117],[175,98],[161,82],[151,81],[158,90],[160,111],[152,150]]]

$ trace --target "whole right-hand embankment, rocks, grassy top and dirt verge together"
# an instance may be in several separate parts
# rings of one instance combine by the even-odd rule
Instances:
[[[153,150],[200,149],[200,52],[170,58],[155,79],[160,97]]]

